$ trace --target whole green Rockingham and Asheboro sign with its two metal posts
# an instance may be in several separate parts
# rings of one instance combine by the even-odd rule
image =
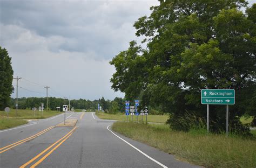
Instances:
[[[226,105],[226,135],[228,136],[228,105],[235,104],[234,89],[201,89],[201,104],[207,104],[207,131],[209,132],[209,104]]]

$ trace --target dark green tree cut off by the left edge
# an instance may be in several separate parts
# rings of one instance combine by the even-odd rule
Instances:
[[[14,90],[12,87],[13,75],[14,71],[8,51],[0,46],[0,110],[10,105],[10,95]]]

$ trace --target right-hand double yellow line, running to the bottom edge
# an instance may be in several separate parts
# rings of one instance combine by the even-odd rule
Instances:
[[[23,164],[20,168],[23,168],[25,166],[28,166],[29,164],[31,164],[32,162],[34,162],[37,158],[39,158],[40,156],[42,156],[45,152],[48,152],[53,146],[55,146],[54,148],[52,148],[48,153],[46,153],[41,159],[39,159],[35,164],[33,164],[30,167],[36,167],[38,164],[40,164],[41,162],[43,162],[43,160],[45,158],[47,158],[49,155],[51,155],[51,153],[53,151],[55,151],[63,142],[66,141],[66,139],[68,139],[73,132],[75,132],[75,130],[78,127],[73,128],[71,131],[68,132],[68,134],[66,134],[65,136],[63,136],[62,138],[60,138],[58,141],[56,141],[55,143],[53,143],[51,146],[49,146],[48,148],[46,148],[44,151],[42,151],[41,153],[39,153],[37,156],[35,156],[34,158],[32,158],[31,160],[29,160],[29,162]]]

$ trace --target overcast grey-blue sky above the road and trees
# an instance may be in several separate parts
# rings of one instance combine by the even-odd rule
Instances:
[[[256,0],[249,1],[250,4]],[[12,58],[18,97],[113,100],[109,61],[138,38],[133,23],[157,0],[0,0],[0,46]],[[13,81],[16,97],[16,80]]]

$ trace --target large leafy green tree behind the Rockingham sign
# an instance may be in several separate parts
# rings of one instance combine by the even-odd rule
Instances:
[[[245,14],[246,6],[243,0],[160,1],[134,24],[147,48],[132,41],[110,62],[112,88],[131,99],[143,94],[144,102],[172,113],[175,129],[186,129],[175,122],[186,113],[205,117],[201,89],[235,89],[230,124],[240,125],[237,116],[256,115],[255,4]],[[211,106],[210,117],[211,129],[225,128],[225,107]]]

